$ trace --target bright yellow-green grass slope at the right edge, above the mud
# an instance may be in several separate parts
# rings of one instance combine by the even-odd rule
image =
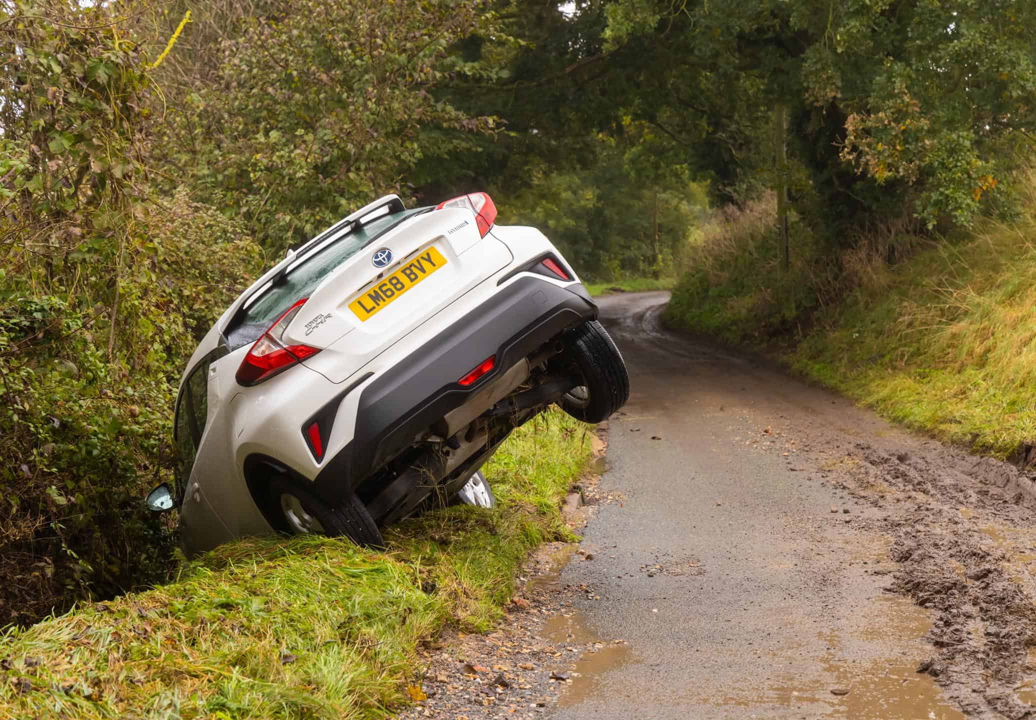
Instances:
[[[908,427],[1000,458],[1036,440],[1036,224],[989,224],[861,288],[785,359]]]

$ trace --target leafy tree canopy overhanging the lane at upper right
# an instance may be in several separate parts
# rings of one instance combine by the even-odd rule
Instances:
[[[764,165],[784,105],[832,235],[904,205],[929,226],[970,223],[997,186],[1001,143],[1033,120],[1036,5],[1024,0],[613,0],[605,12],[587,65],[642,81],[620,112],[664,127],[722,183],[730,165]]]

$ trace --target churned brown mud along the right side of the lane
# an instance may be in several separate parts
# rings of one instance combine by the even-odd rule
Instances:
[[[920,666],[970,717],[1036,718],[1036,500],[1030,477],[936,442],[856,447],[841,478],[891,505],[890,589],[933,613]],[[884,445],[884,447],[883,447]]]

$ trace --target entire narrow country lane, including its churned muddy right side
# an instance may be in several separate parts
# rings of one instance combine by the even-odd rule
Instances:
[[[553,625],[600,650],[548,716],[1030,717],[1030,481],[668,333],[667,298],[600,301],[633,393]]]

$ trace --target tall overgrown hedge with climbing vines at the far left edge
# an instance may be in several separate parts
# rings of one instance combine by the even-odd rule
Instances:
[[[0,625],[164,579],[141,497],[169,477],[178,370],[258,269],[239,225],[154,194],[168,46],[131,17],[0,3]]]

